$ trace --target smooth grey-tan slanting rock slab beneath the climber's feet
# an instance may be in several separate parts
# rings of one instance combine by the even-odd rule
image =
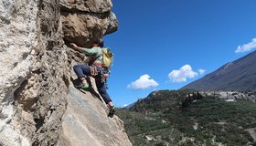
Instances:
[[[59,146],[130,146],[123,121],[109,118],[106,106],[90,92],[70,87]]]

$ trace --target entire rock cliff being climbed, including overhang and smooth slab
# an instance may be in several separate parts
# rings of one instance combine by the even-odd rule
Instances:
[[[67,19],[62,27],[60,21],[60,7],[64,5],[74,16],[74,7],[86,10],[89,16],[83,23],[91,27],[70,32],[88,34],[84,38],[91,42],[116,30],[112,3],[76,1],[70,7],[72,3],[61,2],[60,6],[59,0],[0,0],[1,146],[80,146],[91,140],[102,146],[131,145],[121,120],[107,118],[105,105],[91,92],[73,88],[71,62],[82,59],[63,41],[65,23],[73,22]],[[84,137],[78,139],[82,133]]]

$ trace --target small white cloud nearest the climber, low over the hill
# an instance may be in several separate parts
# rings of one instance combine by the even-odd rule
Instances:
[[[159,84],[147,74],[141,76],[139,79],[133,81],[127,87],[131,89],[149,89],[158,86]]]

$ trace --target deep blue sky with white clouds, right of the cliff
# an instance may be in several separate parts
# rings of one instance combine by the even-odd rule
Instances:
[[[117,106],[179,89],[256,47],[255,0],[112,0],[119,30],[109,93]]]

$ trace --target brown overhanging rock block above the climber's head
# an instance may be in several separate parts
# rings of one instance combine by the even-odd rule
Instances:
[[[64,40],[80,47],[91,47],[97,38],[117,30],[110,0],[61,0]]]

